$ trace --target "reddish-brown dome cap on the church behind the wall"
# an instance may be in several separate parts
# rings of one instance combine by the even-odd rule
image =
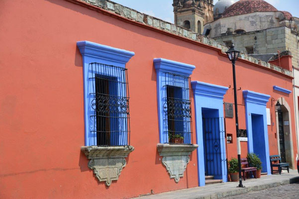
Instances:
[[[271,12],[278,11],[273,5],[264,0],[239,0],[228,7],[222,17],[248,14],[252,12]]]

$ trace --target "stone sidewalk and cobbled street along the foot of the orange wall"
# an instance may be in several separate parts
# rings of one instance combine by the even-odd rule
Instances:
[[[239,182],[228,182],[144,196],[142,199],[299,199],[298,182],[298,171],[290,170],[282,175],[264,175],[260,179],[243,181],[246,186],[243,189],[237,188]]]

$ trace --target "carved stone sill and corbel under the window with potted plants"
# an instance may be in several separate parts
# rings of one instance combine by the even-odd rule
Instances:
[[[189,155],[197,149],[199,145],[177,145],[177,144],[158,144],[157,150],[160,156],[163,156],[162,164],[166,167],[170,178],[174,178],[175,182],[180,181],[180,177],[184,177],[187,164],[190,161]]]

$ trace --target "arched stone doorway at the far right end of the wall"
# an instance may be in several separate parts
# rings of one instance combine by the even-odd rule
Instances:
[[[276,112],[278,153],[282,162],[288,162],[290,167],[294,168],[291,108],[285,98],[280,98],[278,101],[281,104],[281,111]]]

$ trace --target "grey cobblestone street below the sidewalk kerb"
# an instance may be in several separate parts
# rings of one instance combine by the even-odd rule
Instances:
[[[299,199],[299,183],[284,185],[258,192],[250,192],[224,199]]]

